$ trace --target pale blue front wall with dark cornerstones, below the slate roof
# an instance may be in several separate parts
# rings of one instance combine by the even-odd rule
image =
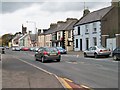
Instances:
[[[93,23],[95,24],[96,31],[94,31]],[[86,31],[86,25],[87,25],[88,32]],[[78,27],[80,27],[80,35],[78,35]],[[101,22],[100,21],[86,23],[86,24],[78,25],[74,27],[74,50],[83,51],[87,49],[87,46],[88,48],[91,46],[95,46],[93,38],[96,38],[97,46],[101,45]],[[76,39],[78,40],[78,47],[76,46],[77,45]],[[88,39],[88,45],[87,45],[86,39]]]

